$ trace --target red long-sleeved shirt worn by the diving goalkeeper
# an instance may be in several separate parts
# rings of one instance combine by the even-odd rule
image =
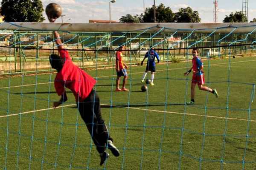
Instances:
[[[58,51],[65,63],[61,71],[56,74],[55,90],[61,96],[64,94],[65,88],[69,88],[73,92],[76,102],[82,102],[92,91],[96,80],[72,62],[67,50]]]

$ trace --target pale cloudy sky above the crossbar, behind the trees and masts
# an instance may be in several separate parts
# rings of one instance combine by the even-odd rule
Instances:
[[[144,0],[145,8],[152,6],[154,0]],[[172,11],[177,12],[179,8],[190,6],[199,12],[202,23],[213,21],[213,0],[155,0],[156,5],[163,3]],[[1,2],[1,0],[0,0]],[[64,22],[88,23],[88,20],[109,20],[109,0],[42,0],[44,8],[48,3],[55,2],[62,6]],[[242,0],[218,0],[218,21],[222,22],[225,15],[232,11],[242,10]],[[256,0],[249,0],[249,20],[256,18]],[[143,0],[116,0],[111,3],[111,19],[118,21],[126,14],[143,13]],[[45,16],[45,14],[44,14]],[[45,16],[46,17],[46,16]],[[47,21],[46,21],[47,22]],[[61,22],[59,18],[57,22]]]

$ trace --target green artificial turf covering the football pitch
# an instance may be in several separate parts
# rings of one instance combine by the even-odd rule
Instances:
[[[252,170],[255,65],[254,57],[204,60],[205,85],[219,98],[196,87],[195,105],[185,105],[192,74],[183,73],[191,62],[157,65],[155,85],[146,92],[140,90],[145,65],[128,68],[130,92],[115,92],[113,68],[87,71],[97,79],[102,116],[120,150],[102,167],[73,94],[67,90],[64,107],[52,109],[60,98],[55,74],[2,78],[0,168]],[[17,113],[23,114],[11,116]]]

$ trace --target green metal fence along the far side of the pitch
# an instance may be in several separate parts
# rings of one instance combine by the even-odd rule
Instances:
[[[196,33],[92,33],[61,32],[61,40],[74,62],[80,67],[113,65],[115,51],[119,45],[125,45],[124,58],[131,63],[143,59],[146,51],[154,45],[161,60],[184,59],[190,57],[192,47],[199,48],[201,57],[223,57],[226,55],[245,55],[255,53],[256,34],[203,34]],[[225,37],[221,42],[223,37]],[[244,41],[239,41],[243,40]],[[57,54],[55,38],[51,31],[1,31],[0,63],[9,62],[13,67],[2,67],[2,73],[36,71],[36,67],[27,68],[28,63],[49,61],[50,54]],[[197,43],[195,43],[197,42]],[[230,44],[235,46],[229,46]],[[193,45],[195,44],[195,45]],[[240,44],[240,45],[239,45]],[[246,44],[246,45],[244,45]],[[250,45],[248,45],[250,44]],[[31,64],[30,64],[31,65]],[[35,65],[35,64],[34,64]],[[38,64],[37,64],[38,65]],[[40,67],[44,68],[43,66]],[[39,68],[38,68],[39,69]],[[49,64],[45,64],[49,70]],[[44,69],[44,70],[45,70]]]

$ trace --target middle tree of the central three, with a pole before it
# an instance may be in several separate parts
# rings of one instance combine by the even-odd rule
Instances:
[[[173,23],[175,14],[170,7],[165,7],[161,3],[156,8],[156,22],[157,23]],[[146,8],[145,15],[142,18],[143,23],[154,23],[154,6]]]

